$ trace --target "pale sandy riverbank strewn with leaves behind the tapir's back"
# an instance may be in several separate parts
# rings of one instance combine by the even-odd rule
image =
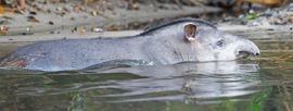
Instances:
[[[3,36],[33,35],[36,33],[55,34],[77,32],[79,34],[101,28],[103,30],[120,30],[137,23],[150,23],[160,18],[187,16],[192,14],[217,13],[218,8],[178,7],[174,3],[161,3],[158,7],[140,3],[130,9],[126,1],[109,0],[104,2],[64,1],[52,3],[47,1],[28,2],[27,9],[4,12],[0,18]],[[93,7],[94,5],[94,7]],[[131,26],[130,26],[131,25]]]

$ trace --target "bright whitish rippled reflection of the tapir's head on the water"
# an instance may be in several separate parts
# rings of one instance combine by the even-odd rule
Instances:
[[[238,64],[231,62],[182,63],[164,66],[141,66],[118,70],[130,72],[149,78],[117,82],[114,85],[103,86],[119,88],[127,92],[116,95],[102,95],[98,97],[135,97],[124,101],[152,101],[214,99],[222,97],[237,97],[255,92],[246,89],[259,84],[257,64]],[[117,71],[117,69],[116,69]],[[175,92],[176,95],[141,97],[154,92]]]

